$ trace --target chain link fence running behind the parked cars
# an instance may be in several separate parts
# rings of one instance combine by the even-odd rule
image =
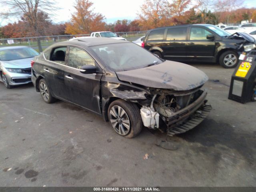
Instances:
[[[117,36],[126,38],[128,41],[134,41],[144,36],[146,32],[147,31],[117,32],[115,34]],[[44,50],[48,46],[57,42],[67,41],[75,37],[88,37],[88,36],[90,36],[90,34],[0,39],[0,48],[5,46],[29,46],[39,52],[38,41],[40,41],[42,50]]]

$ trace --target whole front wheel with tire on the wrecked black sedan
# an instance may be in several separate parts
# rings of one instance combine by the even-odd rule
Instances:
[[[136,104],[121,99],[110,104],[108,120],[115,132],[126,138],[133,138],[142,130],[139,108]]]

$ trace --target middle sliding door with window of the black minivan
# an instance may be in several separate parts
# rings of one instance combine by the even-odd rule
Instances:
[[[164,56],[168,60],[186,60],[186,36],[188,27],[167,28],[162,42]]]

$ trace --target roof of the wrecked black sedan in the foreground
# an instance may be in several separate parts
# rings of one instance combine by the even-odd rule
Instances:
[[[59,46],[59,45],[81,45],[82,44],[87,47],[90,47],[90,46],[116,44],[116,43],[131,43],[131,42],[102,37],[102,38],[80,38],[72,41],[64,41],[64,42],[56,43],[53,45]]]

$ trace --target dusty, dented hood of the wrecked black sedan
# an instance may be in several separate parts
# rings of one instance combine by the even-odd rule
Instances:
[[[203,85],[208,76],[190,65],[165,61],[150,67],[116,72],[118,79],[152,88],[190,90]]]

